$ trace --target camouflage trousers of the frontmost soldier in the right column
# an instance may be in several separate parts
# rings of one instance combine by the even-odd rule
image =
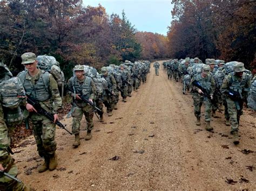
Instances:
[[[243,101],[233,101],[231,98],[227,97],[227,110],[230,115],[231,122],[231,132],[238,131],[240,116],[242,115],[242,105]],[[240,110],[238,110],[240,109]]]

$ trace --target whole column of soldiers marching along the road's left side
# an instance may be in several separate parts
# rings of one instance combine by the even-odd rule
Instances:
[[[10,70],[0,63],[0,190],[30,190],[29,186],[16,179],[18,169],[11,157],[9,132],[11,127],[20,124],[22,119],[32,122],[33,136],[38,154],[44,158],[38,172],[53,171],[57,167],[55,142],[56,123],[62,98],[55,78],[38,67],[34,53],[21,55],[25,70],[13,77]],[[73,76],[68,80],[68,94],[72,97],[72,108],[67,117],[72,116],[72,144],[77,148],[80,143],[80,126],[83,115],[86,119],[87,134],[85,140],[92,138],[93,115],[99,115],[104,122],[103,104],[108,116],[118,109],[119,95],[122,101],[132,96],[132,90],[138,91],[140,81],[146,83],[150,72],[149,61],[125,61],[120,66],[111,65],[100,69],[77,65]],[[21,110],[23,107],[23,113]],[[97,110],[96,110],[96,109]],[[60,123],[61,124],[61,123]]]

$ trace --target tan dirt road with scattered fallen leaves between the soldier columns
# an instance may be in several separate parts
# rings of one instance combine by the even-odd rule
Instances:
[[[204,122],[194,123],[191,95],[182,94],[180,82],[167,80],[159,63],[159,76],[151,64],[147,82],[120,101],[113,116],[105,113],[104,123],[95,117],[91,140],[84,140],[84,118],[78,148],[72,148],[73,136],[57,130],[55,171],[38,173],[43,159],[35,140],[24,140],[14,155],[18,177],[37,190],[255,190],[255,116],[244,111],[238,146],[220,113],[212,121],[214,132],[205,131]],[[72,119],[62,122],[71,129]]]

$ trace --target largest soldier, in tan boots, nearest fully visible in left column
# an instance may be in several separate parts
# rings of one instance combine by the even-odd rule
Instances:
[[[38,114],[33,105],[26,104],[26,112],[33,124],[33,136],[36,139],[37,151],[44,157],[44,164],[39,166],[38,172],[47,169],[53,171],[57,167],[55,142],[55,122],[58,120],[58,110],[62,108],[62,99],[59,96],[57,82],[53,76],[37,68],[36,55],[28,52],[21,56],[26,70],[18,74],[26,94],[34,98],[43,109],[54,116],[53,123],[44,115]]]

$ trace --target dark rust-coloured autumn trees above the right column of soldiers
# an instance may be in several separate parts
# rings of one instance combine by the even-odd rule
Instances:
[[[167,36],[173,58],[219,58],[247,66],[253,62],[256,1],[172,0],[172,4],[174,20]]]

